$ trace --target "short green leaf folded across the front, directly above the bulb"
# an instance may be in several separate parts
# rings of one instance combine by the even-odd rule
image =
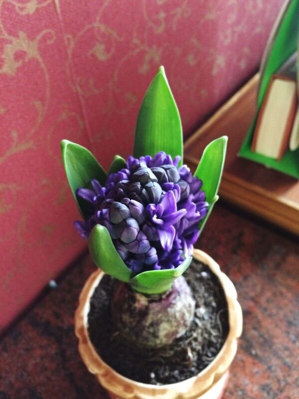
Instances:
[[[130,284],[135,291],[143,294],[162,294],[168,291],[173,281],[189,267],[192,256],[188,257],[175,269],[149,270],[131,278]]]

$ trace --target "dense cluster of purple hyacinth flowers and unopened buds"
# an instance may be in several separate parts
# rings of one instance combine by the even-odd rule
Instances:
[[[97,223],[106,226],[135,273],[177,267],[192,253],[208,206],[201,180],[178,162],[164,152],[129,156],[127,168],[109,175],[104,187],[92,180],[93,190],[78,189],[90,204],[86,221],[75,221],[81,236]]]

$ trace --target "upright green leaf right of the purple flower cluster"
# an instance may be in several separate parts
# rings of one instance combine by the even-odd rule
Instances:
[[[211,214],[214,203],[218,200],[217,193],[224,167],[226,147],[227,136],[222,136],[208,144],[194,173],[194,176],[202,180],[202,190],[205,191],[206,201],[209,203],[208,212],[199,223],[201,230]]]

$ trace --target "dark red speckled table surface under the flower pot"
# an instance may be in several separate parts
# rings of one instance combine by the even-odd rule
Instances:
[[[243,308],[224,399],[299,398],[296,238],[218,203],[197,246],[232,279]],[[2,338],[0,399],[108,398],[82,363],[73,331],[77,298],[93,270],[87,255],[74,262]]]

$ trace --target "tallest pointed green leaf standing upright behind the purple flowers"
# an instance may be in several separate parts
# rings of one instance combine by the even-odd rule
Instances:
[[[143,99],[136,126],[134,157],[159,151],[183,159],[182,124],[163,66],[153,78]]]

